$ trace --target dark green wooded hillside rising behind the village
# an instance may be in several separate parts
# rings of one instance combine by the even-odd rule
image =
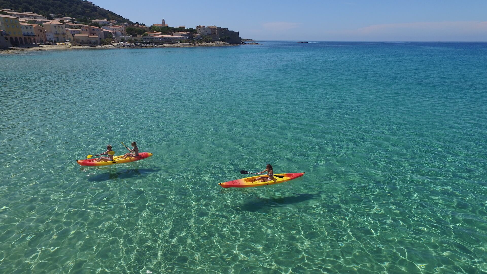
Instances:
[[[0,0],[0,9],[13,9],[17,12],[35,12],[50,18],[50,14],[62,14],[78,20],[108,19],[119,22],[131,22],[109,10],[95,6],[83,0]]]

